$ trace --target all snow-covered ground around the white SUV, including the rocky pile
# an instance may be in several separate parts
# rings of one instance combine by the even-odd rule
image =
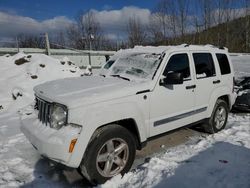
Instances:
[[[24,60],[16,61],[19,59]],[[16,62],[16,64],[15,64]],[[63,63],[64,62],[64,63]],[[250,74],[250,56],[234,56],[237,76]],[[20,64],[20,65],[17,65]],[[0,57],[0,187],[81,187],[75,172],[42,159],[19,130],[17,111],[32,102],[34,85],[80,76],[67,58]],[[250,114],[230,114],[225,130],[194,136],[100,187],[250,187]]]

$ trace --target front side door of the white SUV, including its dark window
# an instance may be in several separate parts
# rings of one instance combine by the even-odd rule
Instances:
[[[172,54],[162,73],[183,74],[183,83],[160,84],[152,92],[150,101],[150,136],[155,136],[193,122],[195,104],[195,83],[188,53]]]

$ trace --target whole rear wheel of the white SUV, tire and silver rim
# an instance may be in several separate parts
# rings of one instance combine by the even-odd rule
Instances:
[[[204,129],[213,134],[223,130],[227,124],[228,105],[224,100],[218,99],[215,103],[211,117],[205,122]]]

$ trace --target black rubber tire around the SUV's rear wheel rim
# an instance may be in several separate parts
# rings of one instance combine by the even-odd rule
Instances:
[[[216,116],[217,116],[218,110],[220,109],[223,109],[225,111],[225,120],[224,122],[221,122],[220,126],[217,126]],[[228,109],[227,103],[224,100],[218,99],[215,103],[211,117],[208,120],[206,120],[205,124],[203,125],[205,131],[207,133],[213,134],[224,129],[227,124],[228,113],[229,113],[229,109]]]

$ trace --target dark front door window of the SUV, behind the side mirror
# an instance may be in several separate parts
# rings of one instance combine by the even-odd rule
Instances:
[[[183,74],[184,80],[190,79],[189,60],[187,54],[173,55],[168,61],[164,73],[178,72]]]

